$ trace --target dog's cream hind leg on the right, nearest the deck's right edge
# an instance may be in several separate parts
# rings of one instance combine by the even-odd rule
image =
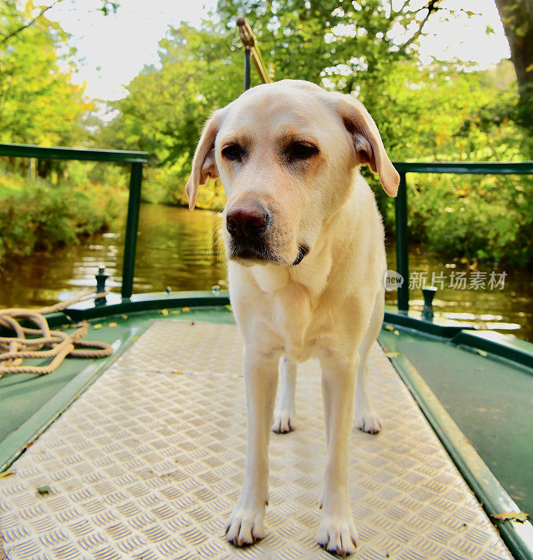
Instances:
[[[357,367],[357,388],[355,391],[355,426],[367,433],[378,433],[381,430],[381,421],[368,395],[367,379],[369,353],[381,330],[384,309],[385,297],[383,291],[380,291],[376,295],[369,327],[359,348],[360,363]]]

